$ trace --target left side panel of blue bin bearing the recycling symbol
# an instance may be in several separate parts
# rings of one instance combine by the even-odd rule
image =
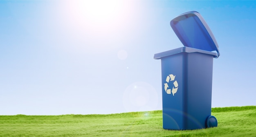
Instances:
[[[182,129],[182,127],[184,127],[184,111],[182,110],[182,91],[184,89],[181,86],[183,85],[183,59],[184,53],[179,53],[172,56],[161,58],[164,129],[180,130]],[[168,87],[166,85],[168,85]],[[176,93],[174,93],[176,90],[175,88],[177,89]]]

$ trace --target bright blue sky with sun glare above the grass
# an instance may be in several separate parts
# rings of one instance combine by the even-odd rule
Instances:
[[[0,1],[0,115],[161,110],[153,56],[187,11],[219,45],[212,107],[256,105],[256,1]]]

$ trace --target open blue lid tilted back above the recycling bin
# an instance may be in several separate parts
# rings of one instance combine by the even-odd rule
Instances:
[[[202,16],[197,11],[183,13],[170,22],[171,27],[184,46],[205,51],[217,51],[218,43]]]

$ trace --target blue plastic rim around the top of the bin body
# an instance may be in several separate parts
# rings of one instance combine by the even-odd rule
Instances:
[[[175,54],[182,53],[182,52],[185,52],[185,53],[195,53],[195,52],[197,52],[197,53],[203,53],[203,54],[212,55],[213,57],[217,57],[218,56],[218,53],[215,53],[215,52],[204,51],[202,49],[195,49],[195,48],[191,48],[191,47],[188,47],[188,46],[184,46],[184,47],[180,47],[180,48],[177,48],[177,49],[172,49],[172,50],[169,50],[169,51],[164,51],[164,52],[161,52],[161,53],[156,53],[154,55],[154,59],[159,60],[159,59],[161,59],[163,57],[175,55]]]

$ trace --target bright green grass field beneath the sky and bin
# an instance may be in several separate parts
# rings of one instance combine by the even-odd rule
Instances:
[[[110,115],[0,115],[0,137],[256,137],[256,106],[212,108],[218,127],[164,130],[162,111]]]

